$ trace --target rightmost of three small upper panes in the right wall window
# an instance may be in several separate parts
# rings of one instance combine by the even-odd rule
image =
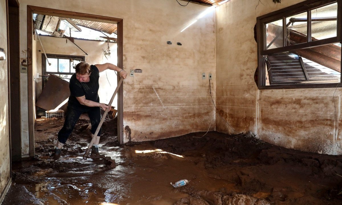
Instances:
[[[337,3],[311,10],[312,41],[336,37]]]

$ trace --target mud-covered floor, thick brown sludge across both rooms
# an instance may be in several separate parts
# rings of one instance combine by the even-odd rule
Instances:
[[[79,120],[59,162],[50,162],[63,120],[36,121],[36,159],[13,164],[3,204],[342,204],[342,156],[300,152],[251,135],[218,132],[119,146],[105,122],[100,151],[84,161],[90,125]],[[174,189],[170,182],[189,184]]]

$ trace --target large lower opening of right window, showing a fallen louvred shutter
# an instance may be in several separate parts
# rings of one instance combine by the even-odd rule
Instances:
[[[341,47],[330,44],[266,55],[266,85],[339,83]]]

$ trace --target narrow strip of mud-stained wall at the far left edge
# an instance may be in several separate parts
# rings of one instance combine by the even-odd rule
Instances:
[[[5,60],[0,60],[0,204],[6,194],[10,180],[10,139],[8,116],[8,50],[6,1],[0,1],[0,48],[4,49]]]

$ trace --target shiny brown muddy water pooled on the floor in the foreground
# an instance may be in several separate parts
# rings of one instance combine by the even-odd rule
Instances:
[[[29,172],[33,182],[25,184],[26,189],[43,204],[51,205],[104,202],[170,205],[188,196],[170,184],[181,179],[188,179],[191,186],[199,190],[234,189],[232,182],[208,177],[206,170],[196,166],[197,158],[193,156],[163,153],[151,145],[104,148],[102,153],[115,159],[114,169],[107,169],[103,160],[84,161],[81,153],[63,156],[52,168],[38,169],[52,164],[49,159],[42,159],[43,163],[24,162],[16,164],[14,169]],[[17,176],[15,181],[23,183],[25,179]]]

